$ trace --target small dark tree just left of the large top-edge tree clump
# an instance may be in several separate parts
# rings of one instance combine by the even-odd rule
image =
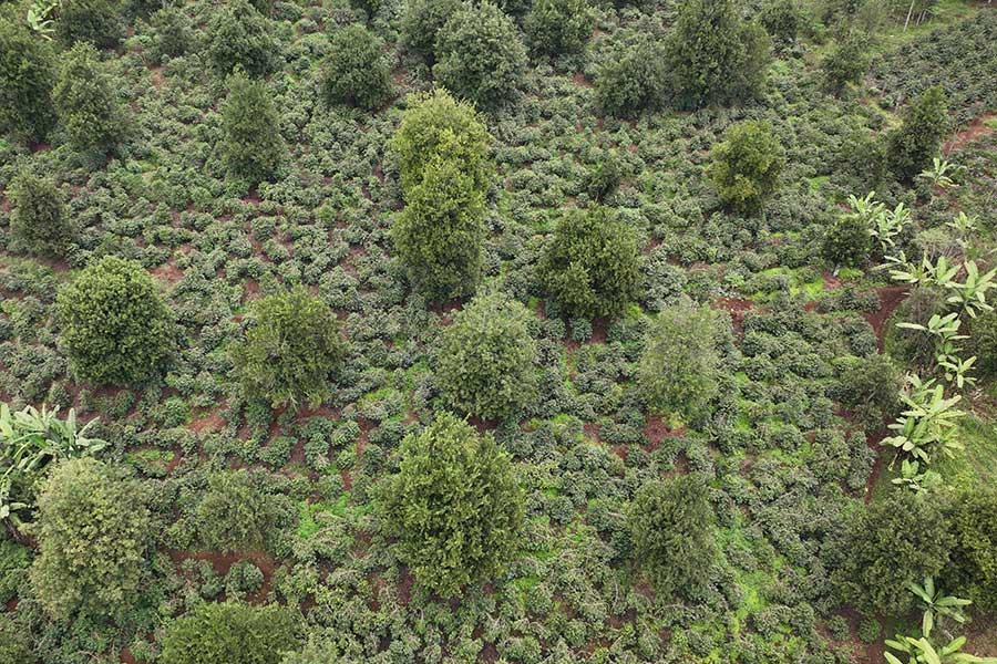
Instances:
[[[596,74],[595,98],[604,113],[633,117],[657,106],[666,92],[661,49],[650,41],[607,58]]]

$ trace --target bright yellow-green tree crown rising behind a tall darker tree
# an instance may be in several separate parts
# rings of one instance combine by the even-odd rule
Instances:
[[[426,164],[442,155],[456,162],[471,176],[474,190],[484,195],[493,170],[489,148],[494,138],[474,107],[441,89],[410,95],[407,103],[409,108],[391,137],[402,190],[419,185]]]

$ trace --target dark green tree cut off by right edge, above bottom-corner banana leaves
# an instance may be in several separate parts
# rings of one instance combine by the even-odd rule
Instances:
[[[997,489],[963,489],[954,501],[950,523],[955,536],[945,579],[958,596],[980,611],[997,610]]]

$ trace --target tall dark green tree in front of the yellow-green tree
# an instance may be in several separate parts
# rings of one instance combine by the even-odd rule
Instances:
[[[433,300],[467,294],[481,281],[484,195],[469,165],[453,157],[460,152],[460,145],[441,146],[391,224],[409,280]]]

